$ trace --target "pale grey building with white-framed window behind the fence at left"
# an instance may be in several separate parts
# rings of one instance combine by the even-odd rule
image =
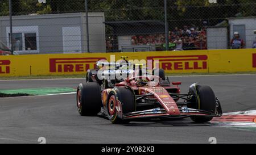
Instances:
[[[106,52],[103,12],[90,12],[90,52]],[[0,40],[10,47],[10,20],[0,17]],[[87,51],[85,13],[13,16],[14,51],[19,54]]]

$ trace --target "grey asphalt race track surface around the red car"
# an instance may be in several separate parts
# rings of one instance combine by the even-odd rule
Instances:
[[[213,88],[224,112],[256,110],[256,74],[172,77],[181,93],[199,82]],[[0,89],[73,87],[84,79],[0,81]],[[256,143],[255,131],[175,121],[112,124],[98,116],[80,116],[76,95],[0,98],[0,143]]]

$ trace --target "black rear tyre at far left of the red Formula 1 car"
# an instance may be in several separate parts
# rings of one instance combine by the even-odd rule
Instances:
[[[77,87],[76,103],[81,116],[97,115],[102,107],[101,88],[98,83],[80,83]]]

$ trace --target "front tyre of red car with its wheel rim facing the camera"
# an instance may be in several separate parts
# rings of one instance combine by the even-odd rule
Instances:
[[[127,124],[130,122],[129,120],[123,120],[117,116],[117,110],[115,109],[117,99],[122,104],[123,114],[133,112],[136,109],[133,93],[131,92],[131,90],[124,87],[118,87],[117,89],[114,89],[109,93],[108,102],[106,104],[108,118],[112,123]]]

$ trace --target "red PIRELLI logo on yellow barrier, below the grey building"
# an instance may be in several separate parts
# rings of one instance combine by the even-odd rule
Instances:
[[[85,73],[88,69],[96,68],[96,62],[106,60],[105,57],[85,58],[49,58],[50,73]]]

